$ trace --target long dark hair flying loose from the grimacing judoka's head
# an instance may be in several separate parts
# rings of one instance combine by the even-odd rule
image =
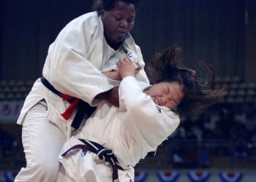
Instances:
[[[196,71],[184,65],[181,47],[173,46],[162,53],[156,53],[146,67],[151,84],[178,82],[184,90],[184,98],[175,111],[181,115],[199,116],[217,100],[225,97],[224,88],[214,86],[214,69],[202,63],[206,72],[203,78]]]

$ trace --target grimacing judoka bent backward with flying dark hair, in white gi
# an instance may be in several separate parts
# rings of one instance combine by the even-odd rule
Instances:
[[[225,96],[225,90],[211,87],[211,70],[206,82],[199,82],[180,55],[179,47],[170,47],[152,60],[148,67],[152,86],[135,79],[129,59],[118,61],[120,107],[100,103],[78,134],[64,144],[58,182],[134,181],[133,167],[176,130],[178,114],[200,114]],[[110,154],[117,160],[107,159]],[[118,178],[113,166],[118,167]]]

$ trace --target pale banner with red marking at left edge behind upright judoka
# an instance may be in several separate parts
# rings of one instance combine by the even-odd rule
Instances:
[[[0,101],[0,122],[15,123],[24,101]]]

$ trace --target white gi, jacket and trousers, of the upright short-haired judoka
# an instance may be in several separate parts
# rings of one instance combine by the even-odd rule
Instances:
[[[42,75],[59,92],[80,98],[92,106],[94,99],[119,82],[106,78],[105,68],[115,69],[120,58],[131,58],[144,66],[140,48],[132,36],[113,50],[105,41],[103,25],[97,12],[90,12],[72,20],[50,45]],[[145,71],[136,79],[148,83]],[[71,122],[62,118],[69,103],[48,90],[38,79],[25,100],[18,118],[23,125],[23,147],[26,168],[22,168],[15,182],[55,182],[59,170],[61,147],[71,135]]]

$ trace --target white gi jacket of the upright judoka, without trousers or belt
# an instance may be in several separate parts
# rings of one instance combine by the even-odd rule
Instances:
[[[109,54],[105,47],[102,20],[97,12],[82,15],[67,24],[53,44],[50,44],[42,75],[59,92],[80,98],[91,106],[95,106],[99,103],[99,100],[94,99],[96,95],[119,84],[106,78],[101,70],[116,66],[118,59],[121,56],[127,58],[127,54],[131,56],[134,63],[144,66],[140,47],[135,44],[129,34],[115,55]],[[113,60],[113,58],[116,59]],[[114,68],[111,67],[111,69]],[[143,70],[136,78],[148,83]],[[67,109],[69,103],[48,90],[40,79],[34,83],[25,100],[18,124],[24,122],[26,113],[40,100],[45,100],[47,103],[50,122],[56,124],[69,138],[69,127],[75,113],[68,121],[62,118],[61,113]]]

